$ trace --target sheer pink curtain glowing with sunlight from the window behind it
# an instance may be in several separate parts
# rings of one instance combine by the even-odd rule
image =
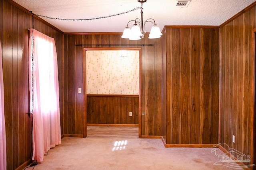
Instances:
[[[42,162],[44,154],[61,143],[57,53],[54,39],[35,29],[30,29],[29,49],[30,109],[33,111],[32,160]]]

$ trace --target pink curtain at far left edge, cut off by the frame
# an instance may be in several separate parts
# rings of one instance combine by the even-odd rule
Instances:
[[[4,121],[4,79],[3,79],[3,63],[2,49],[0,42],[0,170],[6,170],[6,136]]]

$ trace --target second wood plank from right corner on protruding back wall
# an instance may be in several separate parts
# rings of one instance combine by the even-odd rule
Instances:
[[[211,29],[200,29],[200,143],[210,143]]]

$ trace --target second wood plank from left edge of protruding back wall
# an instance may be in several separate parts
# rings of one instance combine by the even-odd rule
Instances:
[[[180,29],[172,29],[172,144],[178,144],[180,127]]]

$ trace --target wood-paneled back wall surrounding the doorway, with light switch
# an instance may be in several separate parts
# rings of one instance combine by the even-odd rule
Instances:
[[[139,41],[121,39],[120,33],[64,35],[64,134],[83,134],[83,96],[77,89],[83,87],[83,48],[109,47],[95,44],[122,44],[111,47],[142,48],[142,135],[162,135],[161,123],[161,68],[160,39]],[[76,46],[75,44],[87,44]],[[93,45],[92,45],[93,44]],[[127,46],[129,44],[129,46]],[[141,46],[137,44],[154,44]],[[86,104],[85,104],[86,105]]]

